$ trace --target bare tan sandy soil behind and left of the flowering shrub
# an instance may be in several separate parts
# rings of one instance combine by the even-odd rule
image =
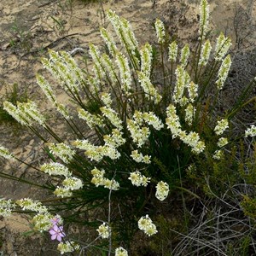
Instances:
[[[86,1],[85,1],[86,2]],[[141,43],[154,42],[155,18],[164,20],[168,32],[180,40],[191,42],[197,37],[198,3],[196,0],[113,0],[106,3],[86,4],[80,0],[5,0],[0,1],[0,98],[9,84],[17,83],[19,90],[47,108],[35,83],[35,73],[43,72],[40,58],[47,49],[77,51],[75,58],[83,65],[83,55],[88,44],[102,45],[98,29],[108,26],[107,9],[115,10],[130,20]],[[234,42],[234,48],[255,50],[256,3],[253,0],[209,0],[212,13],[212,32],[224,31]],[[62,100],[64,96],[60,96]],[[39,149],[41,143],[27,131],[12,125],[0,124],[0,144],[10,148],[21,159],[28,156],[30,162],[39,164],[44,160]],[[24,166],[9,165],[0,161],[7,172],[24,174]],[[26,170],[26,173],[29,170]],[[25,173],[25,175],[26,175]],[[32,178],[38,178],[37,174]],[[36,189],[10,183],[0,178],[0,197],[20,198],[39,196]],[[40,236],[21,236],[30,230],[23,215],[15,214],[0,219],[0,255],[57,255],[53,247],[45,246]],[[46,239],[47,241],[47,239]]]

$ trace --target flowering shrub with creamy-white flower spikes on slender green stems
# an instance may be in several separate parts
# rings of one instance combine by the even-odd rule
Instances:
[[[47,207],[31,199],[2,199],[0,213],[36,213],[34,229],[49,231],[52,240],[60,241],[61,253],[83,250],[67,238],[60,225],[62,218],[76,222],[90,209],[107,207],[106,219],[87,224],[98,225],[96,240],[108,239],[108,250],[115,255],[128,255],[119,243],[126,241],[125,246],[130,247],[138,230],[146,236],[157,234],[157,224],[151,219],[161,214],[157,206],[183,189],[180,184],[188,170],[202,162],[218,164],[228,154],[230,119],[244,106],[239,102],[226,113],[215,108],[230,70],[231,43],[220,33],[212,50],[207,39],[207,0],[201,1],[195,50],[188,44],[179,49],[176,41],[169,42],[160,20],[154,24],[157,45],[140,46],[127,20],[111,10],[107,16],[120,44],[102,28],[108,54],[90,44],[91,73],[80,69],[64,51],[49,49],[49,59],[42,59],[44,68],[76,106],[58,102],[48,80],[37,75],[38,85],[72,131],[67,139],[50,127],[35,102],[3,103],[10,115],[43,140],[49,160],[39,168],[30,167],[53,178],[42,187],[59,197],[59,202],[53,200]],[[160,70],[155,63],[161,63]],[[255,126],[247,129],[246,136],[255,136]],[[19,160],[2,146],[0,155]],[[207,166],[206,171],[211,168]],[[55,217],[56,211],[62,212],[62,218]],[[95,219],[101,218],[95,215]]]

